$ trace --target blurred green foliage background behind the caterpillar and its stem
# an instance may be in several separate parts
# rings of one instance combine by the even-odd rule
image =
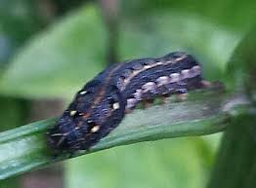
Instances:
[[[186,51],[206,79],[227,82],[226,62],[255,10],[252,0],[0,0],[0,130],[61,115],[88,80],[129,58]],[[201,188],[219,138],[113,148],[0,187]]]

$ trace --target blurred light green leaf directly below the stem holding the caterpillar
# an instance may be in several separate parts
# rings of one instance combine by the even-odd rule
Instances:
[[[203,144],[199,137],[166,139],[83,156],[65,163],[65,186],[203,187],[209,165],[201,152],[212,154],[198,146]]]

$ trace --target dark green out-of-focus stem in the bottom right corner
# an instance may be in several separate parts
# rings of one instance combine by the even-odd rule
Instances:
[[[233,119],[224,135],[209,188],[255,187],[255,123],[255,114],[246,113]]]

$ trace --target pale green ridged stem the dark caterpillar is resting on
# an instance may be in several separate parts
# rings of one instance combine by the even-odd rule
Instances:
[[[90,152],[142,141],[221,132],[227,125],[227,113],[223,111],[225,98],[222,94],[220,97],[213,97],[212,93],[192,94],[183,102],[135,110]],[[54,122],[36,122],[0,133],[0,179],[68,157],[54,158],[46,144],[46,132]],[[85,153],[88,152],[75,155]]]

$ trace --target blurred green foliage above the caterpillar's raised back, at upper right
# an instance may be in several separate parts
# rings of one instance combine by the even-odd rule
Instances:
[[[186,51],[210,80],[225,80],[226,62],[254,22],[251,0],[121,1],[121,59]],[[234,11],[239,10],[239,11]]]

